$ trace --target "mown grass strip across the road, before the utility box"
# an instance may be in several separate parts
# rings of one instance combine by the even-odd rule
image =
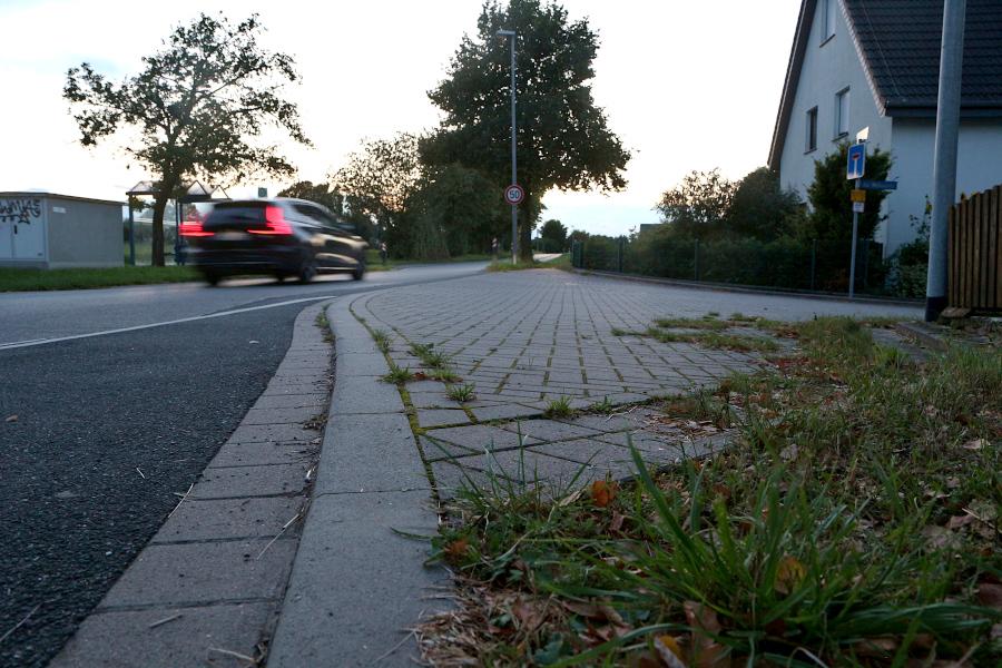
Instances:
[[[193,267],[107,267],[78,269],[0,268],[0,292],[85,289],[200,281]]]

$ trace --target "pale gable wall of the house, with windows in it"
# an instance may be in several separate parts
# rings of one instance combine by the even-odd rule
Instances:
[[[877,109],[841,4],[836,12],[835,35],[824,41],[825,2],[817,2],[779,159],[779,183],[796,190],[805,202],[807,187],[814,181],[815,160],[833,153],[838,141],[854,141],[858,130],[870,127],[871,146],[887,150],[892,145],[891,119],[881,116]],[[849,89],[849,134],[837,138],[835,95],[846,87]],[[817,149],[808,153],[807,110],[813,107],[817,107]]]

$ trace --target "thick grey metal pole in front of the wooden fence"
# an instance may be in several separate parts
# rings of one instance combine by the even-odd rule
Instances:
[[[966,4],[966,0],[946,0],[943,6],[936,148],[933,158],[932,228],[929,234],[929,275],[925,284],[926,322],[936,320],[946,307],[946,229],[950,208],[956,196],[956,137],[960,125]]]

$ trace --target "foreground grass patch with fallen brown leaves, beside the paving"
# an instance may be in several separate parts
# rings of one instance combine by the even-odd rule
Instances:
[[[468,483],[433,559],[460,606],[436,664],[973,666],[1002,661],[1002,351],[916,365],[847,318],[664,410],[737,431],[618,488]],[[941,662],[943,661],[943,662]]]

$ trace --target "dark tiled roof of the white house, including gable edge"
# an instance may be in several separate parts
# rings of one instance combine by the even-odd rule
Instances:
[[[943,0],[842,0],[877,108],[891,117],[934,117]],[[769,150],[777,169],[817,0],[803,0]],[[967,0],[961,115],[1002,116],[1002,0]]]

